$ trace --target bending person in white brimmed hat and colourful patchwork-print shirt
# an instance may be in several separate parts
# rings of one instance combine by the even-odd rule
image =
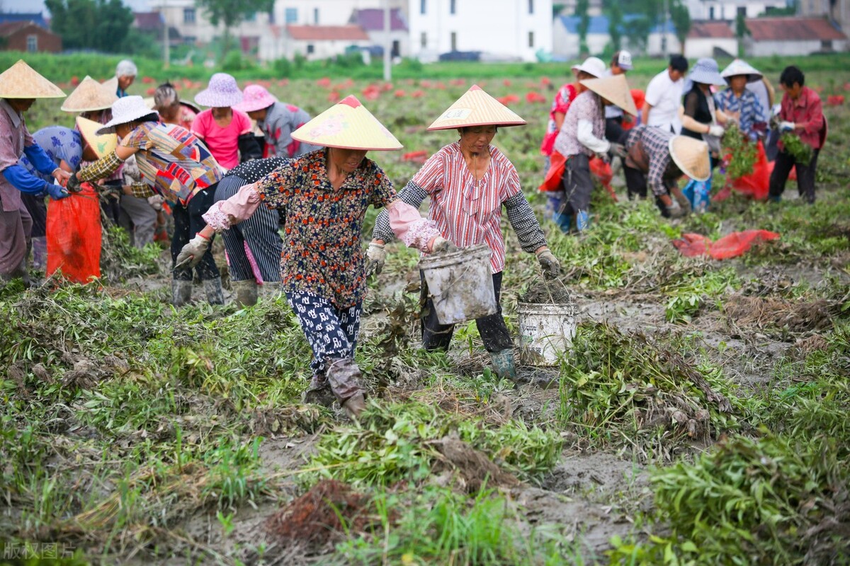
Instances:
[[[144,184],[130,187],[140,198],[153,194],[172,203],[174,236],[171,253],[173,261],[183,244],[206,226],[201,214],[206,212],[215,195],[215,186],[223,174],[206,146],[191,132],[173,124],[161,124],[155,110],[149,109],[140,96],[119,98],[112,104],[112,120],[98,134],[115,132],[121,143],[110,154],[71,176],[68,187],[74,190],[80,182],[91,182],[115,171],[131,155],[136,156]],[[202,260],[202,261],[201,261]],[[212,254],[199,256],[198,277],[204,284],[207,301],[224,304],[221,275]],[[172,300],[184,305],[192,294],[192,272],[175,267],[172,280]]]

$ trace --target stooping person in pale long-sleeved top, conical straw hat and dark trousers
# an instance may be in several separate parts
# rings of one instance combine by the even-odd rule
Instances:
[[[564,177],[564,202],[558,218],[558,226],[563,232],[582,232],[587,228],[590,216],[590,195],[593,180],[590,173],[590,159],[594,154],[608,159],[608,152],[624,155],[620,143],[605,139],[604,108],[615,104],[631,115],[637,115],[632,100],[632,92],[626,83],[626,76],[616,75],[602,79],[581,81],[587,87],[582,92],[564,118],[564,125],[555,140],[555,150],[567,159]]]

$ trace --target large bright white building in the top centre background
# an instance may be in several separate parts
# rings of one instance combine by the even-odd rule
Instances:
[[[414,57],[480,51],[536,61],[552,51],[552,0],[408,0]]]

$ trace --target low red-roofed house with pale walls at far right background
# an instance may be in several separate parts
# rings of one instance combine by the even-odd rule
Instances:
[[[847,36],[826,18],[752,18],[744,38],[750,57],[796,57],[847,51]]]

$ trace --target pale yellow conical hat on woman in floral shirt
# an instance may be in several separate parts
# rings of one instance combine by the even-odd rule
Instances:
[[[326,148],[401,149],[401,142],[371,115],[360,100],[348,96],[292,132],[299,142]]]

